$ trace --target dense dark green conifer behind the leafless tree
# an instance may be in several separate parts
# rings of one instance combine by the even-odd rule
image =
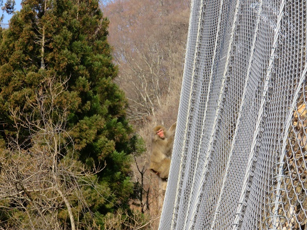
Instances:
[[[20,148],[33,147],[35,127],[16,134],[12,111],[39,118],[30,105],[45,94],[50,76],[58,82],[67,79],[65,92],[54,106],[67,111],[70,148],[89,169],[105,165],[94,176],[104,194],[90,186],[82,190],[97,226],[103,226],[107,213],[129,210],[130,154],[138,151],[125,117],[124,94],[113,82],[117,67],[107,43],[107,26],[95,0],[24,0],[0,37],[0,148],[9,147],[9,137],[18,138]],[[52,119],[56,123],[57,116]],[[70,197],[70,202],[76,207],[74,199]],[[65,222],[65,215],[59,212],[58,218]]]

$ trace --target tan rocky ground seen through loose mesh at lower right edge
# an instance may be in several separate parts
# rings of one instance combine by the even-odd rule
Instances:
[[[299,101],[303,103],[293,109],[292,125],[289,128],[286,154],[283,158],[282,209],[281,206],[278,208],[278,215],[286,217],[286,221],[280,222],[277,229],[307,229],[307,190],[304,186],[307,180],[307,110],[305,100],[301,98]],[[270,212],[274,213],[275,210]]]

